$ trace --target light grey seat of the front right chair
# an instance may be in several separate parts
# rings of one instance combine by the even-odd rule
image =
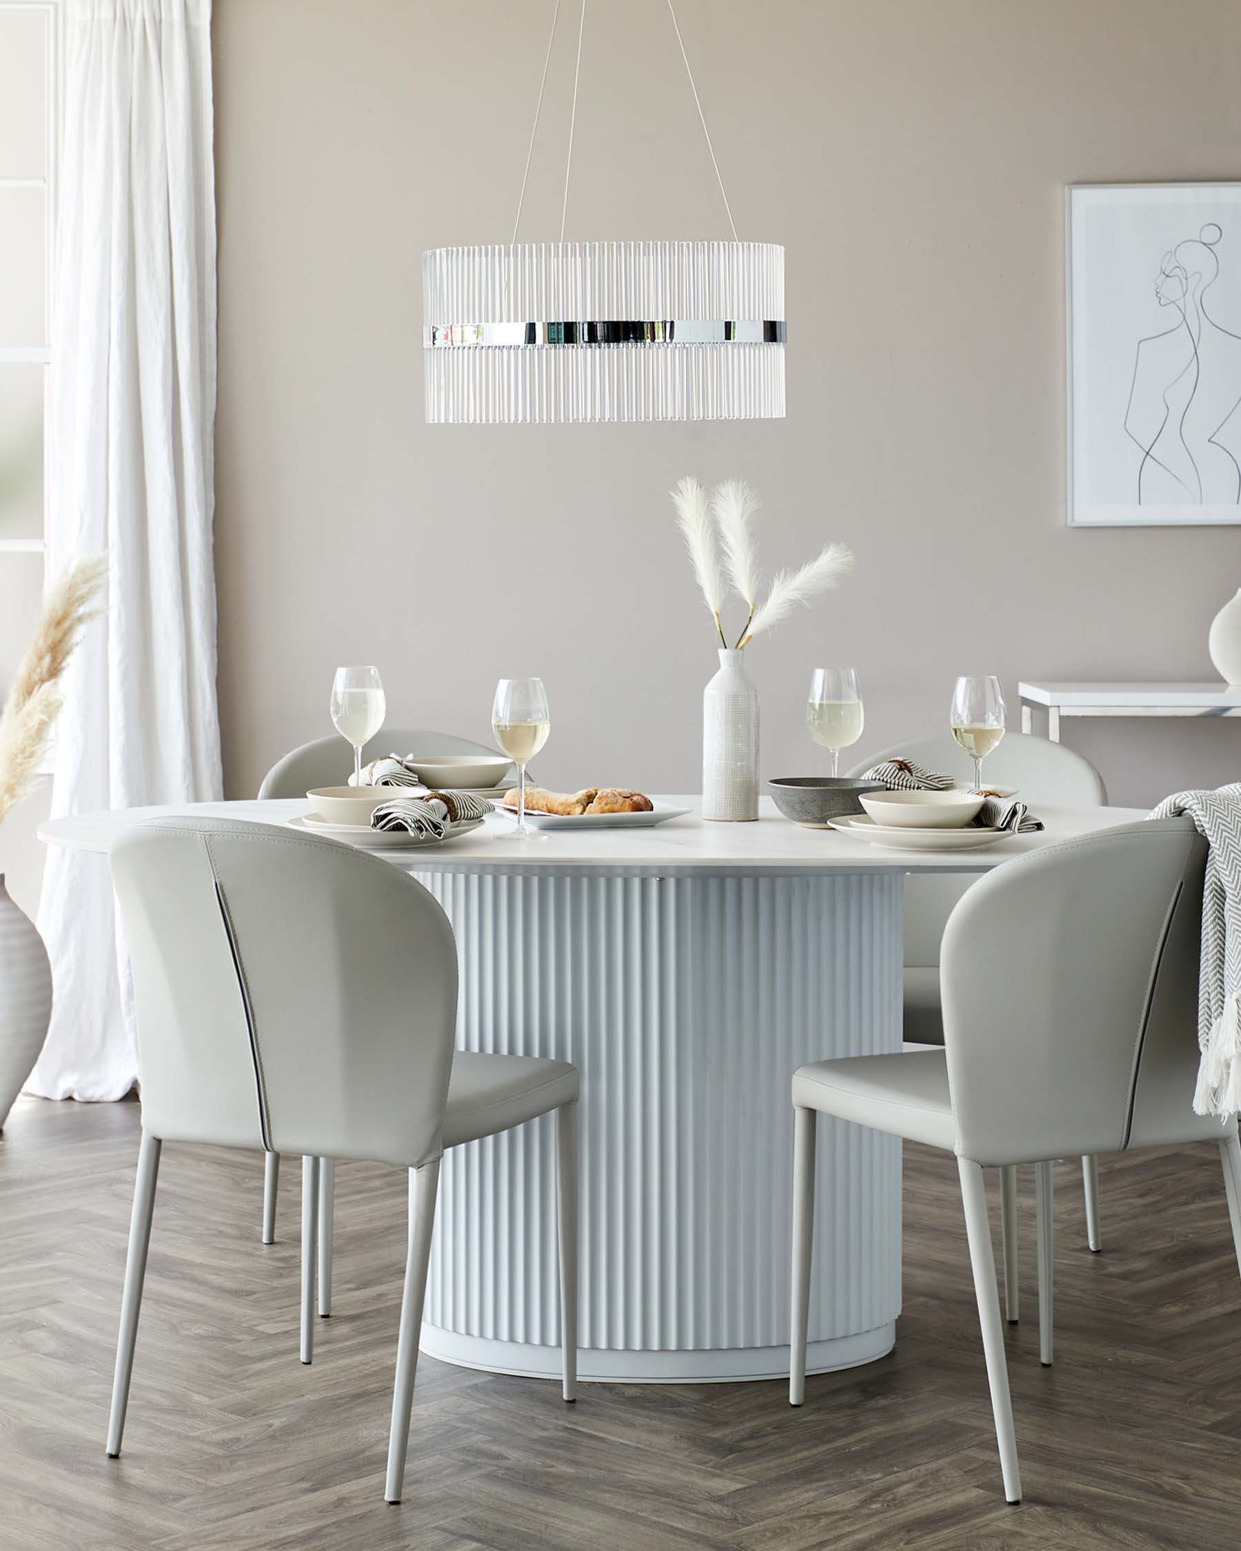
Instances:
[[[943,1050],[816,1061],[794,1073],[793,1103],[949,1152],[957,1146]]]

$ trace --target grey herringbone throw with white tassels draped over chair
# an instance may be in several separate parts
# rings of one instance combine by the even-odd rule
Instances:
[[[1179,791],[1153,819],[1188,814],[1210,847],[1202,890],[1202,959],[1198,969],[1199,1115],[1241,1111],[1241,782],[1218,791]]]

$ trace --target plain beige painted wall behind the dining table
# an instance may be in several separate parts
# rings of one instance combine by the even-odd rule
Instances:
[[[684,473],[763,493],[771,565],[855,577],[759,642],[763,771],[816,765],[810,668],[862,749],[952,678],[1208,678],[1241,530],[1064,526],[1070,181],[1241,174],[1235,0],[681,0],[743,237],[788,250],[782,422],[427,427],[419,254],[506,240],[551,3],[216,0],[217,563],[230,793],[330,731],[343,661],[391,720],[486,737],[541,673],[540,777],[697,789],[709,620]],[[554,237],[576,8],[523,236]],[[662,0],[588,11],[571,237],[726,236]],[[1120,802],[1238,774],[1241,724],[1077,723]]]

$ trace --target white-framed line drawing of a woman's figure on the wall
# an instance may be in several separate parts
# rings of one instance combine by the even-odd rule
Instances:
[[[1069,524],[1241,523],[1241,183],[1067,191]]]

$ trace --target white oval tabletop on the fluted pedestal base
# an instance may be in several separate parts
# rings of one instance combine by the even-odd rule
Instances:
[[[512,867],[548,870],[597,869],[600,872],[960,872],[982,873],[999,862],[1055,841],[1077,839],[1118,824],[1146,817],[1145,808],[1053,808],[1039,807],[1046,828],[1035,834],[1005,836],[980,851],[886,851],[836,830],[804,830],[776,811],[769,797],[759,802],[755,824],[707,824],[698,817],[698,797],[661,797],[661,802],[695,811],[653,828],[549,830],[544,838],[512,838],[513,820],[493,814],[481,830],[444,847],[410,851],[374,851],[385,861],[417,870],[492,872]],[[39,836],[50,845],[105,851],[130,825],[149,819],[199,816],[285,824],[307,813],[302,799],[268,802],[202,802],[155,808],[116,808],[50,819]]]

